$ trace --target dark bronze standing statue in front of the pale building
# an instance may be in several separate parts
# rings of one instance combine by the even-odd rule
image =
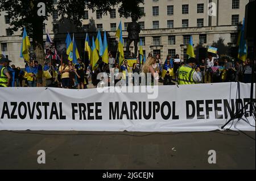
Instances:
[[[139,26],[139,23],[137,23],[137,16],[132,15],[131,19],[133,22],[129,23],[127,26],[128,39],[126,45],[126,57],[129,57],[130,44],[134,41],[134,57],[136,58],[138,53],[139,33],[141,32],[141,26]]]

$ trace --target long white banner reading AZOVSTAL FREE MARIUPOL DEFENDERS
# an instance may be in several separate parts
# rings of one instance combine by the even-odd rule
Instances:
[[[0,88],[0,130],[213,131],[250,100],[250,85],[214,83],[156,86],[155,92]],[[131,87],[130,87],[131,88]],[[255,85],[254,85],[255,90]],[[240,91],[240,94],[237,94]],[[148,99],[148,94],[156,94]],[[240,96],[238,96],[240,95]],[[255,99],[255,91],[254,91]],[[255,131],[246,107],[231,129]],[[226,127],[229,128],[231,123]]]

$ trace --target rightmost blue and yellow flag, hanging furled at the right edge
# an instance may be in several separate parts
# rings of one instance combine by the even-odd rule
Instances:
[[[243,26],[238,37],[238,59],[245,61],[247,58],[247,44],[245,40],[245,19],[243,18]]]

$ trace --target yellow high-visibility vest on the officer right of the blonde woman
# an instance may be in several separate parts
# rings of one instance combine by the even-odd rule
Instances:
[[[181,66],[178,70],[178,84],[195,84],[195,82],[193,81],[193,73],[195,73],[195,70],[193,70],[192,68],[189,68],[188,66]]]

